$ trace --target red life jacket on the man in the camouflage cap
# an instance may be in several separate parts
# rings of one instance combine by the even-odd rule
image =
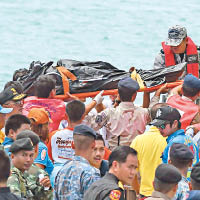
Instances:
[[[186,62],[187,62],[187,73],[193,74],[199,78],[199,62],[198,62],[198,52],[197,47],[190,37],[187,37],[187,47],[186,47]],[[176,65],[174,59],[174,53],[171,51],[171,46],[165,45],[162,42],[163,51],[165,53],[165,65],[166,67]]]

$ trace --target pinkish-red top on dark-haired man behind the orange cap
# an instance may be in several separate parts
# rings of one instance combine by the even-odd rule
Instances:
[[[49,124],[49,132],[57,130],[60,121],[65,119],[65,104],[60,99],[38,98],[30,96],[24,99],[23,114],[28,116],[31,108],[45,108],[53,121]]]

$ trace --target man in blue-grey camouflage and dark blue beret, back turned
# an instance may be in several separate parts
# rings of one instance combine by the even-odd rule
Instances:
[[[81,200],[90,185],[100,178],[99,170],[89,164],[95,147],[96,132],[81,124],[74,128],[73,133],[75,156],[66,161],[56,176],[55,200]]]

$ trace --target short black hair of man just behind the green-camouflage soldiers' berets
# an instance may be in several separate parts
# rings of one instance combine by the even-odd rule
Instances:
[[[22,114],[14,114],[11,115],[6,121],[5,125],[5,134],[8,136],[9,130],[17,131],[21,127],[22,124],[31,124],[28,117]]]

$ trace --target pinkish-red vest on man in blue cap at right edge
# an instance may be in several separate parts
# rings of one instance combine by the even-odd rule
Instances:
[[[186,129],[191,125],[192,120],[199,111],[199,106],[194,102],[181,98],[179,95],[173,95],[168,98],[167,104],[179,110],[181,114],[181,128]]]

